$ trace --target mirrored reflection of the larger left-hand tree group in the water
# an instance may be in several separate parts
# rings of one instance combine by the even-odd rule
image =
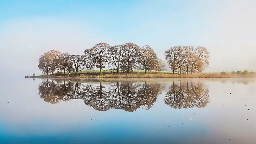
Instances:
[[[45,102],[57,104],[61,100],[83,99],[86,105],[95,110],[106,111],[111,108],[128,112],[138,108],[150,109],[161,94],[165,84],[113,82],[104,84],[80,83],[73,81],[43,80],[39,85],[39,96]]]

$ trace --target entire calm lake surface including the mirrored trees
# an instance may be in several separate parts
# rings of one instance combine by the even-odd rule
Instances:
[[[255,144],[255,80],[6,80],[0,143]]]

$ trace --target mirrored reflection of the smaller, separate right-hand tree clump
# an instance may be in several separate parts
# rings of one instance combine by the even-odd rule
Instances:
[[[174,82],[165,95],[164,102],[176,109],[205,107],[209,103],[209,89],[200,82]]]

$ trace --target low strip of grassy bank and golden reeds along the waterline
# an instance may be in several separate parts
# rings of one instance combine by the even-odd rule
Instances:
[[[25,78],[255,78],[254,74],[141,74],[141,73],[120,73],[120,74],[85,74],[82,73],[78,76],[74,74],[51,74],[41,76],[25,76]]]

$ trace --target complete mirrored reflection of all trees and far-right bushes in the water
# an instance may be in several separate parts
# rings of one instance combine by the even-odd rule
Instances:
[[[216,81],[215,79],[210,79]],[[221,79],[221,83],[229,80]],[[231,79],[231,83],[247,85],[252,79]],[[158,82],[100,81],[81,79],[42,79],[39,96],[45,102],[57,104],[60,101],[83,99],[84,104],[95,110],[106,111],[111,108],[132,112],[138,108],[150,109],[162,94],[165,84]],[[200,81],[172,81],[165,94],[164,103],[175,109],[202,108],[209,103],[209,89]]]

